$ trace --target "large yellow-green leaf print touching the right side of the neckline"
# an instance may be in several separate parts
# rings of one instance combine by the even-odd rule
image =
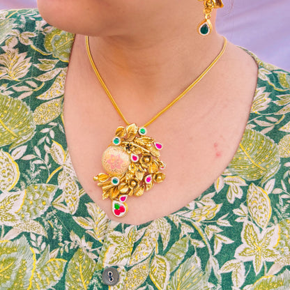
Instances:
[[[265,183],[280,167],[278,146],[261,132],[246,129],[229,169],[247,181]]]

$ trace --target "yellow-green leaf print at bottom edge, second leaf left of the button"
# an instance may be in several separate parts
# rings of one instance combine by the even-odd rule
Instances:
[[[49,248],[45,249],[36,262],[36,270],[31,280],[31,289],[47,290],[61,280],[66,260],[49,259]]]

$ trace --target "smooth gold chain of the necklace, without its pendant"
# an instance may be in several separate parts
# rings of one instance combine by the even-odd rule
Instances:
[[[211,68],[215,65],[215,63],[217,63],[217,61],[220,59],[222,54],[224,54],[224,51],[225,51],[226,47],[227,47],[227,38],[224,38],[224,45],[222,46],[222,50],[215,57],[215,59],[211,62],[211,64],[201,73],[201,75],[199,75],[199,77],[197,77],[197,79],[195,79],[194,82],[192,82],[192,84],[190,84],[177,98],[175,98],[172,102],[170,102],[169,105],[167,105],[164,109],[162,109],[158,114],[153,116],[153,118],[150,121],[148,121],[143,127],[147,127],[148,125],[153,123],[153,121],[155,121],[160,115],[162,115],[164,112],[166,112],[167,109],[172,107],[176,102],[178,102],[178,100],[183,98],[183,96],[185,96],[185,94],[188,93],[196,84],[198,84],[201,81],[201,79],[208,73],[208,71],[211,70]],[[91,56],[91,49],[90,49],[90,46],[89,46],[89,37],[88,36],[86,36],[86,52],[88,53],[89,61],[91,62],[91,66],[92,66],[94,72],[96,73],[96,76],[98,77],[98,80],[99,80],[100,84],[102,85],[102,88],[107,93],[107,96],[109,97],[109,100],[111,100],[112,104],[114,105],[114,108],[116,109],[118,114],[121,116],[123,121],[127,125],[129,125],[130,123],[125,119],[125,116],[122,114],[121,109],[119,109],[119,107],[116,104],[113,96],[109,92],[109,89],[107,89],[107,86],[106,86],[105,82],[103,81],[102,77],[100,76],[100,73],[98,72],[98,69],[96,68],[96,65],[95,65],[95,63],[93,61],[93,57]]]

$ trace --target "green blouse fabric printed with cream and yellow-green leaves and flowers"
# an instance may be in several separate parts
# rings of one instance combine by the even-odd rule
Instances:
[[[61,116],[74,36],[38,10],[0,20],[0,289],[290,289],[289,73],[256,58],[252,112],[222,176],[132,226],[107,219],[70,162]]]

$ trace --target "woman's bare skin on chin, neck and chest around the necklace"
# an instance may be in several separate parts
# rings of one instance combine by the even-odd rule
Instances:
[[[216,31],[207,37],[196,33],[202,20],[199,1],[185,0],[182,5],[174,0],[66,2],[49,1],[48,6],[38,0],[40,13],[61,29],[90,35],[93,59],[103,79],[128,121],[137,125],[144,125],[176,98],[222,48]],[[57,17],[60,10],[63,17]],[[233,158],[256,83],[257,64],[229,44],[206,77],[148,127],[148,135],[164,144],[167,177],[142,197],[129,198],[128,215],[118,219],[112,215],[110,201],[102,200],[102,190],[92,176],[104,171],[102,153],[116,128],[125,124],[93,73],[84,36],[77,35],[63,113],[79,182],[109,218],[119,222],[142,224],[178,210],[199,197]]]

